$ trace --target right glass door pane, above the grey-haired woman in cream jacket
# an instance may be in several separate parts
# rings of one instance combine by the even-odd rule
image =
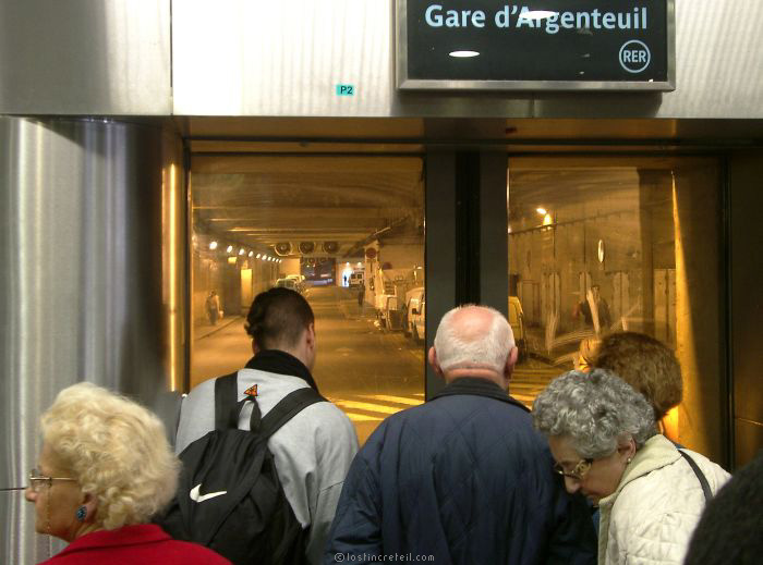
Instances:
[[[601,337],[630,330],[676,351],[683,403],[674,437],[720,441],[719,175],[714,160],[509,160],[509,312],[531,404]]]

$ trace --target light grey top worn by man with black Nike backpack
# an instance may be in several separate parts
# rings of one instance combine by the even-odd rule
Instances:
[[[257,384],[257,404],[267,415],[287,394],[308,386],[299,377],[241,369],[239,400]],[[239,418],[239,428],[249,430],[251,404]],[[183,401],[175,452],[215,429],[215,379],[195,386]],[[320,563],[344,477],[358,453],[358,435],[349,418],[329,402],[307,406],[286,422],[267,443],[289,504],[303,528],[310,527],[306,554],[312,564]]]

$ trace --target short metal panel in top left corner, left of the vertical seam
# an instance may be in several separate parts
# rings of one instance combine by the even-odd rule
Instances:
[[[0,2],[0,113],[169,114],[170,3]]]

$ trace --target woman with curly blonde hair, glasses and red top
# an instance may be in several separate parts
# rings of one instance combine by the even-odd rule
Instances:
[[[180,466],[154,414],[83,382],[58,395],[41,428],[26,500],[39,533],[70,542],[46,565],[230,564],[148,524],[174,494]]]

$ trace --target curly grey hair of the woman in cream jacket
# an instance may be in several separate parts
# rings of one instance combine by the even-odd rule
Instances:
[[[656,433],[654,410],[644,396],[604,369],[557,377],[533,403],[535,428],[567,437],[582,457],[615,453],[632,439],[640,450]]]

